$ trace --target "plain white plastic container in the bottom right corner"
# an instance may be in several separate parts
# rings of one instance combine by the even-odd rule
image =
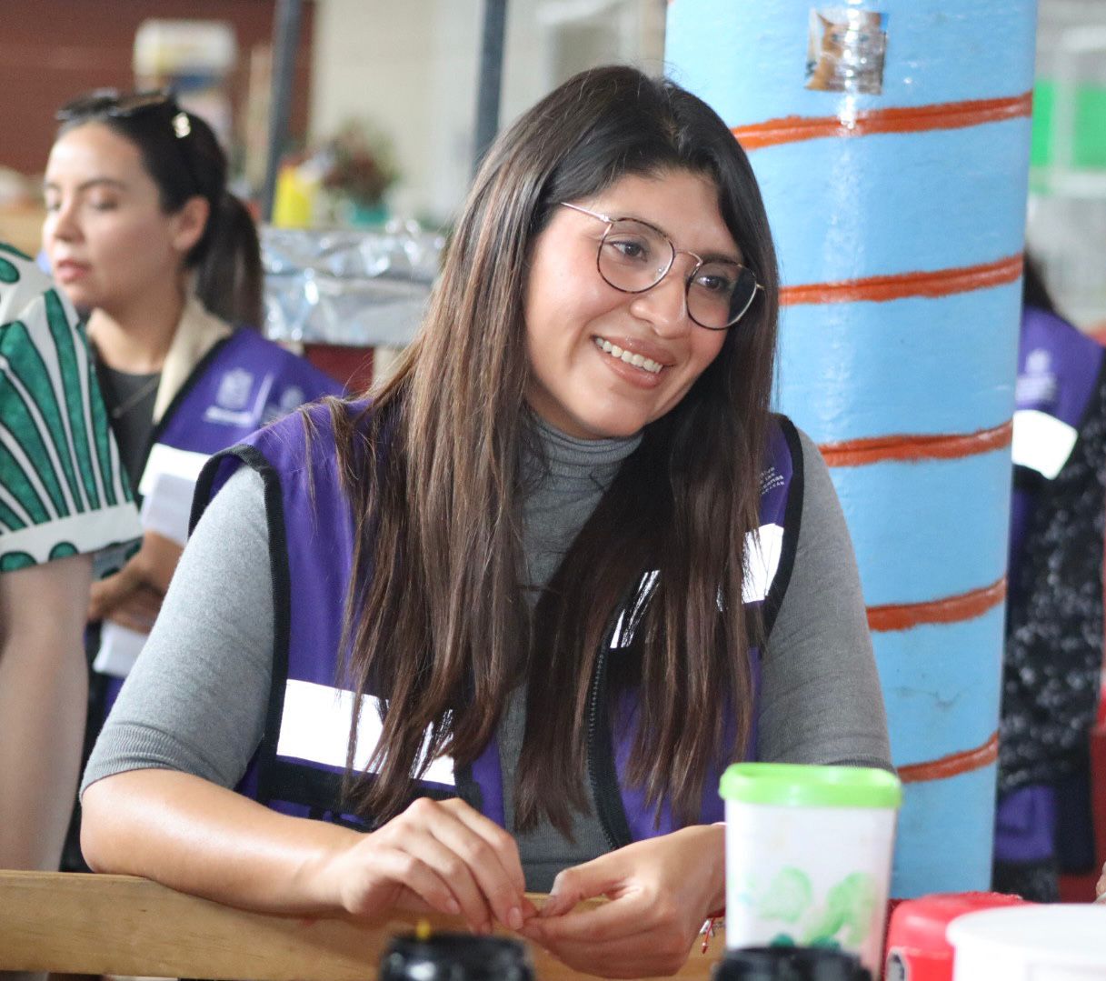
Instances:
[[[953,981],[1102,981],[1106,907],[1008,906],[949,923]]]

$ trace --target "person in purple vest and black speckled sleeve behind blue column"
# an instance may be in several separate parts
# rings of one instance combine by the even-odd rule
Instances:
[[[1055,902],[1061,873],[1095,868],[1106,351],[1057,313],[1032,257],[1022,302],[992,885]]]

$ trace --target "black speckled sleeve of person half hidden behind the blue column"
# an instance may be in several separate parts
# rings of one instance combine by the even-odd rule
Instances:
[[[1072,456],[1041,480],[1010,583],[999,790],[1053,783],[1085,765],[1103,661],[1106,369]],[[1015,470],[1015,480],[1030,479]]]

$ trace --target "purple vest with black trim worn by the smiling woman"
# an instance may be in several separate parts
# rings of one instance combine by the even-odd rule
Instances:
[[[364,404],[353,404],[349,411],[362,408]],[[343,814],[340,805],[353,696],[341,680],[335,681],[353,555],[353,520],[334,466],[328,414],[322,408],[307,413],[315,430],[310,443],[302,416],[296,414],[215,458],[200,478],[194,523],[238,467],[244,463],[260,472],[272,549],[273,681],[264,737],[239,790],[285,813],[356,825],[358,822]],[[303,477],[307,468],[314,481],[310,489]],[[801,448],[794,427],[782,417],[772,427],[770,461],[761,486],[760,547],[750,553],[751,571],[743,593],[748,605],[763,607],[766,633],[791,575],[802,507]],[[593,677],[588,771],[597,816],[612,848],[678,826],[667,802],[661,803],[658,814],[646,806],[641,789],[624,779],[637,722],[636,703],[625,697],[614,723],[604,708],[605,657],[629,646],[656,577],[656,573],[643,575],[635,598],[615,612]],[[755,651],[751,660],[758,690],[760,659]],[[361,722],[354,760],[358,770],[364,769],[377,744],[375,705],[363,707]],[[732,720],[729,730],[733,731]],[[504,825],[499,760],[494,737],[469,766],[455,769],[449,760],[435,760],[418,782],[417,793],[461,796]],[[705,782],[699,818],[703,823],[722,820],[720,769],[712,769]]]

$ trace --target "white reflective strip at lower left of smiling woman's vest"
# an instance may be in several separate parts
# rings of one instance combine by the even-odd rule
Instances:
[[[284,711],[281,714],[276,755],[328,766],[345,766],[353,699],[352,691],[313,681],[289,679],[284,685]],[[380,741],[383,727],[379,708],[379,699],[372,695],[362,696],[357,750],[353,761],[355,770],[365,771],[369,756]],[[452,759],[438,756],[419,779],[453,786]]]

